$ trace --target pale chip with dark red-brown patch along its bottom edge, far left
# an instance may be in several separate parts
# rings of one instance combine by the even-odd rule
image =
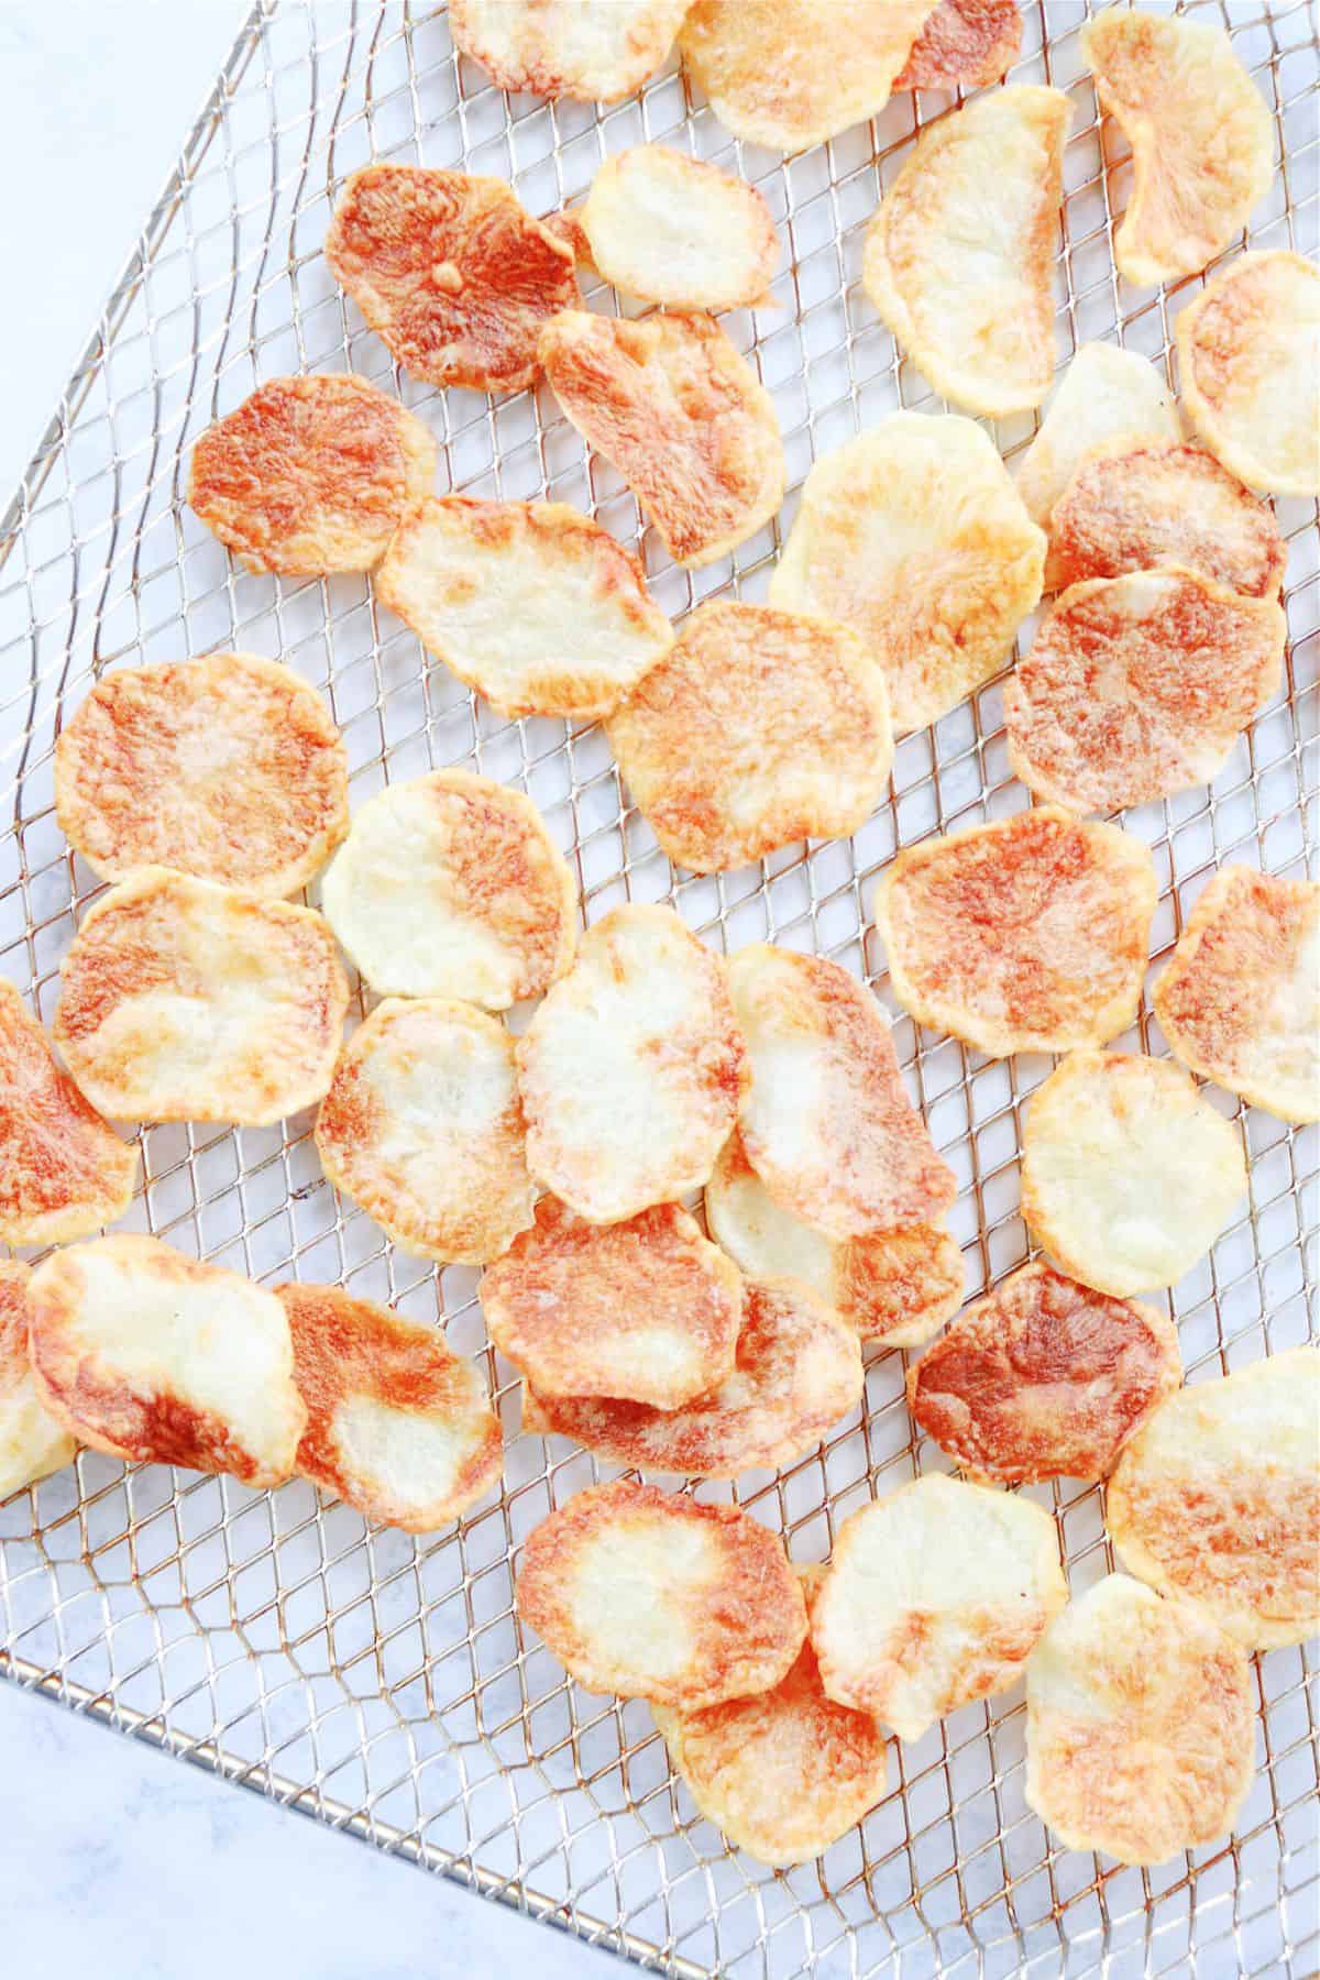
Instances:
[[[307,1412],[273,1293],[115,1236],[55,1251],[28,1299],[38,1390],[79,1443],[253,1489],[293,1473]]]

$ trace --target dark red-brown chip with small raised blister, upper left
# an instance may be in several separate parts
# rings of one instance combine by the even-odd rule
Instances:
[[[354,172],[325,257],[404,370],[477,392],[534,384],[540,327],[578,295],[572,249],[503,178],[420,164]]]

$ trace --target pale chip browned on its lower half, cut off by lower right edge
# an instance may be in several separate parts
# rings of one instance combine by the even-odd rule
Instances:
[[[1118,1459],[1108,1531],[1126,1568],[1247,1649],[1320,1628],[1320,1354],[1271,1354],[1170,1396]]]

